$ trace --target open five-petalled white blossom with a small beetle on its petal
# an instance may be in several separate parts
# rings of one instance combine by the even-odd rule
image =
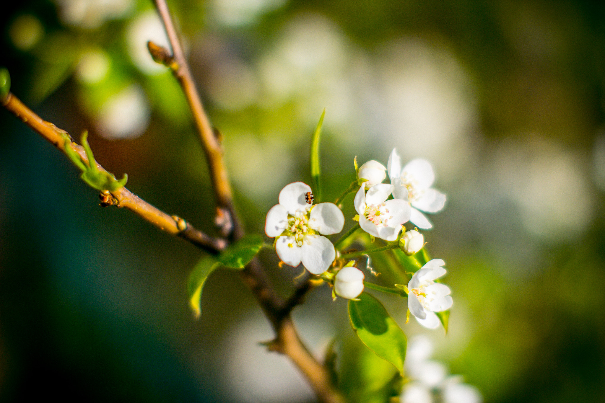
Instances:
[[[313,205],[309,185],[293,182],[281,190],[280,204],[267,213],[265,233],[278,237],[275,251],[290,266],[301,262],[313,274],[326,271],[336,257],[332,242],[319,234],[342,231],[344,216],[333,203]]]

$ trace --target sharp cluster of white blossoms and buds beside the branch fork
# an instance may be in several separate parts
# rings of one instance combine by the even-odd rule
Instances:
[[[387,173],[390,184],[382,183]],[[357,169],[357,180],[348,190],[354,192],[359,187],[353,201],[359,228],[390,242],[385,248],[399,248],[415,259],[413,256],[425,245],[418,228],[433,227],[424,213],[437,213],[445,205],[445,195],[432,187],[434,180],[433,167],[427,160],[412,160],[401,167],[401,158],[394,149],[387,167],[378,161],[367,161]],[[355,267],[355,260],[341,257],[341,252],[324,236],[342,231],[344,221],[336,204],[314,205],[309,185],[294,182],[281,190],[279,204],[267,213],[265,232],[275,237],[275,251],[282,262],[290,266],[302,263],[309,272],[329,282],[334,295],[355,299],[364,290],[364,273]],[[405,231],[408,221],[416,229]],[[400,236],[402,230],[404,234]],[[408,293],[408,309],[418,323],[435,329],[441,323],[436,312],[450,309],[453,300],[450,288],[437,280],[446,272],[443,260],[427,262],[427,254],[423,256],[414,261],[425,264],[419,267],[415,263],[419,269],[407,288],[401,287]]]

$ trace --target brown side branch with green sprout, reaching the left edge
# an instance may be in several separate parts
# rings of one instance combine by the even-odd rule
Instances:
[[[34,131],[38,132],[42,137],[53,144],[53,146],[65,153],[64,135],[67,134],[67,132],[59,129],[50,122],[42,120],[41,117],[28,108],[13,94],[9,93],[2,105],[4,108],[8,109],[8,111],[13,112],[13,114],[20,118],[25,124],[27,124],[27,126],[30,126],[32,129],[34,129]],[[82,146],[79,146],[73,141],[69,144],[69,146],[75,152],[79,153],[79,155],[82,156],[85,161],[88,161],[87,155]],[[100,166],[99,163],[96,164],[99,170],[105,171],[105,169]],[[108,195],[109,193],[102,193],[102,196]],[[159,210],[158,208],[144,201],[125,187],[121,187],[115,192],[111,192],[111,197],[113,199],[111,199],[111,201],[105,205],[113,204],[117,207],[128,208],[128,210],[134,211],[134,213],[136,213],[138,216],[148,222],[151,222],[151,224],[160,228],[160,230],[181,237],[188,242],[193,243],[195,246],[207,251],[208,253],[217,254],[227,246],[226,240],[213,238],[202,231],[197,230],[191,224],[185,222],[185,220],[164,213],[162,210]]]

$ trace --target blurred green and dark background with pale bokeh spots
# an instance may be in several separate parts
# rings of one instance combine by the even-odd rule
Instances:
[[[283,185],[310,181],[325,107],[325,200],[355,178],[354,156],[386,164],[393,147],[430,159],[448,193],[425,236],[447,264],[450,332],[404,325],[405,301],[379,295],[405,332],[430,335],[486,402],[605,400],[605,4],[169,4],[250,231]],[[188,108],[146,53],[146,40],[166,44],[151,2],[10,2],[0,19],[12,91],[74,138],[88,129],[130,190],[213,233]],[[185,279],[199,251],[99,207],[4,109],[0,127],[2,401],[313,401],[258,346],[272,334],[237,274],[212,275],[195,321]],[[352,198],[344,211],[348,228]],[[261,259],[286,295],[299,269]],[[318,356],[350,339],[325,286],[294,316]]]

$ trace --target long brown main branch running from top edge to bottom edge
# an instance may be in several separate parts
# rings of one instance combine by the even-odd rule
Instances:
[[[227,176],[227,170],[223,161],[222,147],[212,130],[212,126],[204,112],[201,103],[200,95],[195,87],[195,82],[189,71],[185,53],[181,46],[180,39],[174,27],[174,22],[168,10],[168,5],[165,0],[154,0],[155,7],[166,28],[166,34],[172,47],[172,56],[169,58],[169,66],[172,73],[180,83],[185,97],[188,100],[189,107],[194,117],[195,127],[200,137],[201,146],[204,149],[206,160],[211,172],[212,185],[214,187],[215,197],[219,207],[226,208],[231,213],[233,221],[233,237],[238,239],[244,234],[237,211],[235,211],[231,184]],[[155,53],[157,58],[166,59],[166,55],[160,54],[154,47],[149,47],[152,54]],[[168,60],[168,59],[166,59]],[[270,343],[270,349],[281,352],[290,359],[307,378],[309,384],[321,402],[325,403],[342,403],[344,399],[335,390],[330,381],[330,375],[325,370],[324,366],[318,363],[313,355],[302,344],[296,329],[290,317],[290,312],[298,304],[301,303],[304,295],[312,288],[310,283],[304,282],[304,285],[298,287],[292,297],[286,302],[275,292],[272,285],[267,279],[266,272],[261,267],[257,259],[252,260],[246,268],[241,271],[242,279],[248,288],[255,295],[258,303],[263,309],[267,319],[275,330],[276,338],[273,343]]]

